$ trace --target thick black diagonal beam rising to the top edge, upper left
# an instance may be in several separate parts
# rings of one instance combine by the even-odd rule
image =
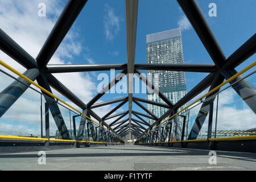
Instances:
[[[65,35],[68,33],[69,28],[75,22],[80,11],[84,7],[87,0],[69,0],[64,10],[62,11],[59,19],[52,28],[46,42],[44,43],[41,51],[39,52],[36,60],[40,69],[46,67],[47,63],[55,53],[56,49],[60,46]]]

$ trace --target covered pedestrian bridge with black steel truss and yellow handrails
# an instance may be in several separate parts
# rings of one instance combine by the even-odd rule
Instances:
[[[126,1],[127,63],[49,65],[86,2],[68,1],[36,59],[0,30],[1,51],[27,69],[20,73],[0,60],[1,170],[256,169],[256,61],[246,62],[256,51],[256,34],[226,58],[197,2],[177,0],[214,64],[137,64],[138,1],[130,0]],[[120,72],[87,104],[53,76],[110,69]],[[207,76],[172,103],[139,70]],[[121,78],[135,73],[161,102],[134,97],[132,92],[98,102]],[[127,87],[133,88],[133,77]],[[128,110],[118,111],[125,104]],[[146,104],[166,112],[157,117]],[[97,114],[108,105],[114,107],[105,115]],[[36,163],[38,151],[45,152],[47,166]],[[210,164],[215,154],[217,164]]]

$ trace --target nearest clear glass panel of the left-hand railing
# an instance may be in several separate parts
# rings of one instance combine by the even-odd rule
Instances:
[[[5,90],[14,81],[13,78],[0,72],[1,100],[5,97],[11,98],[11,100],[16,99],[20,88],[13,86]],[[24,86],[25,88],[27,86]],[[3,109],[5,110],[5,107]],[[0,135],[40,138],[41,122],[41,95],[31,88],[27,88],[0,118]]]

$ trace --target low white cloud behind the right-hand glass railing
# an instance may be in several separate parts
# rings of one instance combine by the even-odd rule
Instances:
[[[216,105],[217,97],[213,109],[213,130],[216,121]],[[189,126],[195,122],[200,107],[201,104],[190,110]],[[209,115],[205,119],[201,132],[207,131],[208,118]],[[221,92],[218,98],[217,130],[248,130],[253,128],[256,128],[255,114],[236,91],[229,88]]]

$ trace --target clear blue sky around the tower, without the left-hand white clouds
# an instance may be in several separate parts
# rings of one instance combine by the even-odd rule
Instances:
[[[210,17],[209,3],[217,5],[217,17]],[[255,34],[255,1],[198,1],[225,56],[231,55],[238,47]],[[108,12],[118,19],[113,26],[113,37],[106,36]],[[184,14],[176,1],[139,1],[138,28],[135,63],[146,63],[146,35],[179,27]],[[108,17],[113,18],[113,17]],[[82,45],[88,46],[87,54],[94,63],[126,63],[126,26],[124,1],[88,1],[75,24],[82,37]],[[213,63],[192,27],[181,27],[185,63]],[[250,57],[238,68],[244,68],[255,60]],[[86,64],[86,59],[78,57],[74,63]],[[207,73],[185,73],[187,90],[191,90]],[[98,81],[100,82],[100,81]],[[110,95],[110,96],[109,96]],[[108,97],[109,96],[109,97]],[[146,97],[141,94],[141,97]],[[112,94],[104,96],[111,99]],[[134,108],[137,108],[134,105]]]

